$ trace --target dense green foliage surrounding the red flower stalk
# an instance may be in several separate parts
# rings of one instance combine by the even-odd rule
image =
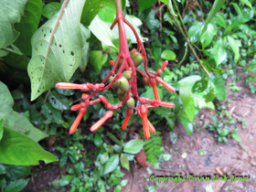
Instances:
[[[228,142],[231,137],[239,142],[238,128],[230,131],[228,126],[236,120],[216,101],[225,101],[226,86],[240,91],[236,86],[239,72],[245,74],[251,93],[255,92],[256,1],[198,1],[199,6],[190,10],[185,0],[163,0],[161,5],[156,0],[122,2],[125,18],[144,42],[149,68],[156,71],[165,59],[169,60],[161,76],[176,92],[170,95],[163,86],[158,91],[163,101],[172,101],[176,107],[149,111],[153,125],[165,123],[167,129],[161,132],[169,132],[176,144],[176,122],[191,134],[197,128],[197,112],[208,108],[216,110],[216,117],[212,117],[213,124],[203,128],[212,131],[219,142]],[[70,103],[80,99],[81,91],[59,90],[55,84],[103,80],[112,67],[108,61],[117,57],[119,36],[118,27],[110,29],[115,17],[113,0],[67,3],[1,2],[0,188],[5,191],[26,187],[28,179],[18,178],[29,176],[27,165],[38,165],[39,160],[48,164],[59,159],[60,168],[67,170],[66,176],[52,183],[57,191],[63,187],[70,191],[105,191],[112,187],[121,191],[127,184],[121,179],[121,168],[130,170],[134,155],[143,147],[148,163],[156,168],[171,160],[162,146],[161,132],[144,141],[140,136],[133,139],[129,131],[121,129],[124,110],[114,112],[111,128],[89,132],[87,128],[106,112],[100,102],[83,117],[83,121],[90,121],[80,123],[79,131],[69,135],[77,115],[69,112]],[[132,30],[126,29],[132,49],[136,39]],[[138,69],[144,71],[143,66]],[[225,83],[228,78],[232,80],[229,85]],[[141,96],[154,99],[152,88],[138,82],[138,89],[144,92]],[[119,101],[111,90],[105,96],[112,103]],[[133,115],[128,125],[133,123],[142,124],[142,120]],[[245,121],[240,123],[246,126]],[[37,143],[43,139],[40,144],[46,148],[44,139],[49,135],[61,141],[53,144],[54,155]]]

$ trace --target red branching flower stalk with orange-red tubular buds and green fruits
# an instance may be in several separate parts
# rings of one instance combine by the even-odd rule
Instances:
[[[147,59],[146,53],[144,49],[144,45],[140,38],[138,37],[137,32],[134,27],[123,17],[122,4],[121,0],[115,0],[116,5],[116,18],[112,23],[111,29],[118,24],[119,28],[119,54],[115,61],[110,61],[112,64],[112,70],[107,75],[107,77],[102,80],[101,83],[84,83],[84,84],[76,84],[76,83],[67,83],[67,82],[59,82],[56,84],[56,87],[59,89],[71,89],[71,90],[81,90],[81,91],[93,91],[91,95],[82,94],[81,99],[83,102],[80,104],[73,105],[71,107],[72,111],[80,110],[78,117],[75,122],[71,125],[69,133],[74,133],[77,129],[82,116],[88,109],[89,105],[92,105],[97,102],[102,102],[105,107],[109,110],[105,113],[105,115],[97,122],[91,126],[91,132],[95,132],[97,129],[101,127],[103,123],[105,123],[108,119],[112,117],[112,112],[119,110],[126,105],[126,117],[124,118],[122,129],[125,130],[129,119],[134,111],[138,113],[138,115],[143,119],[143,127],[144,127],[144,136],[146,139],[150,138],[150,131],[155,133],[155,127],[152,123],[149,122],[148,109],[155,108],[158,106],[173,108],[175,104],[172,102],[160,101],[160,97],[156,88],[156,83],[162,84],[168,91],[174,92],[175,89],[158,77],[165,67],[168,64],[168,61],[165,60],[162,67],[155,71],[147,70]],[[133,30],[133,34],[137,40],[137,49],[133,49],[131,53],[129,52],[127,39],[124,30],[124,24],[130,27]],[[137,69],[142,63],[144,63],[144,71]],[[137,74],[143,76],[143,83],[145,86],[151,85],[153,87],[155,100],[150,100],[148,98],[140,98],[137,91]],[[108,82],[109,80],[109,82]],[[118,93],[118,98],[122,103],[120,104],[112,104],[103,96],[100,95],[99,98],[93,100],[92,97],[96,95],[99,91],[106,91],[110,88],[114,89]],[[135,107],[135,101],[133,98],[136,98],[140,104]]]

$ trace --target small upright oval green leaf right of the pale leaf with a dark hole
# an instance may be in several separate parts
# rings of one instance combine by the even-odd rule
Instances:
[[[220,75],[215,75],[213,79],[214,83],[214,92],[216,93],[216,97],[219,101],[224,101],[227,95],[227,90],[225,87],[225,81]]]

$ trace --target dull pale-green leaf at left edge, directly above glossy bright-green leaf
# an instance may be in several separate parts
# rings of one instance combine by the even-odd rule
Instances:
[[[13,111],[14,100],[8,88],[0,81],[0,119],[4,119],[4,125],[18,132],[26,133],[35,141],[48,136],[34,127],[25,116]]]

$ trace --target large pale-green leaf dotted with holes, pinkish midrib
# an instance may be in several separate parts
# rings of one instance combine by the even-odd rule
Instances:
[[[82,37],[80,15],[85,0],[65,0],[32,37],[32,59],[27,68],[31,80],[31,101],[57,82],[69,81],[80,65]]]

